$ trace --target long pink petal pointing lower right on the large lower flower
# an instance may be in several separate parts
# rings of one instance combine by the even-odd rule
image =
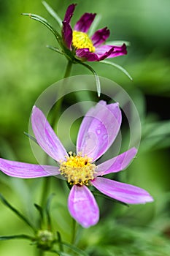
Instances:
[[[146,190],[130,184],[112,181],[108,178],[101,177],[95,178],[91,183],[104,195],[124,203],[136,204],[153,201],[153,198]]]

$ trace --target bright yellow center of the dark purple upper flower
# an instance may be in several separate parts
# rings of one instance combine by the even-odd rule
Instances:
[[[75,49],[88,48],[91,53],[95,51],[93,42],[84,32],[73,31],[72,45]]]

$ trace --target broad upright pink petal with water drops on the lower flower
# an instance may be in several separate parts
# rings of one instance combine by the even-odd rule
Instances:
[[[117,103],[107,105],[100,101],[90,108],[82,120],[77,136],[77,153],[93,158],[101,157],[112,145],[121,124],[121,111]]]

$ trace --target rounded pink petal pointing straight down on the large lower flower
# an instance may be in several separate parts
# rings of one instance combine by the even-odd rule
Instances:
[[[98,222],[98,205],[88,187],[74,185],[69,193],[68,207],[72,217],[82,227],[90,227]]]

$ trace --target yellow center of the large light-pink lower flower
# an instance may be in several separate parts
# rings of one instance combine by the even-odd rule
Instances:
[[[88,185],[88,182],[93,180],[96,169],[96,165],[91,162],[92,159],[89,157],[72,155],[72,152],[69,152],[69,157],[61,162],[59,170],[70,184]]]

